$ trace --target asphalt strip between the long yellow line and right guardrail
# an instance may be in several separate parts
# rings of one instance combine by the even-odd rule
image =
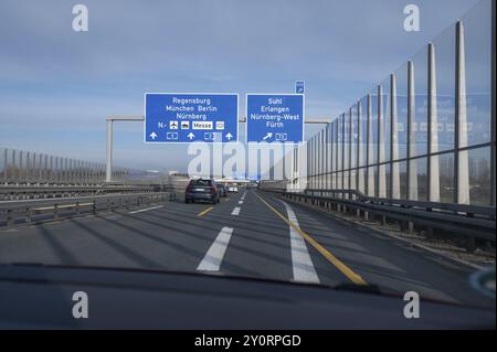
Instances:
[[[278,211],[284,203],[272,195],[264,198]],[[369,285],[398,292],[416,291],[422,297],[473,306],[495,306],[469,285],[475,269],[435,256],[432,253],[338,220],[308,207],[287,202],[294,209],[300,228],[340,258]],[[310,246],[308,246],[310,247]],[[319,277],[328,268],[322,256],[310,247]]]

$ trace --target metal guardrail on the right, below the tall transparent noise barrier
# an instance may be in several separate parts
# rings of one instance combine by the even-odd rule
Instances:
[[[465,247],[470,252],[475,249],[475,239],[496,242],[495,207],[374,199],[355,190],[265,191],[329,211],[355,212],[367,220],[378,216],[383,224],[389,220],[399,222],[402,231],[424,227],[433,234],[433,230],[440,230],[465,237]]]

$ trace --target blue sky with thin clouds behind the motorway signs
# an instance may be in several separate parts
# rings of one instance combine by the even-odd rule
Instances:
[[[144,115],[145,92],[244,97],[304,79],[306,116],[330,120],[477,2],[1,0],[0,147],[104,162],[106,116]],[[88,32],[72,29],[76,3]],[[410,3],[420,32],[403,29]],[[187,168],[186,146],[144,145],[140,122],[114,138],[116,164]]]

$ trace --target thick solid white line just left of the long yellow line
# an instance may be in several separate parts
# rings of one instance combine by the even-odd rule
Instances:
[[[282,201],[283,202],[283,201]],[[294,210],[287,203],[283,202],[288,214],[288,220],[298,225],[297,216],[295,216]],[[294,280],[302,282],[319,284],[319,277],[314,268],[313,259],[310,259],[309,252],[307,250],[306,242],[303,236],[295,231],[294,226],[288,226],[290,233],[290,247],[292,247],[292,266],[294,269]]]

